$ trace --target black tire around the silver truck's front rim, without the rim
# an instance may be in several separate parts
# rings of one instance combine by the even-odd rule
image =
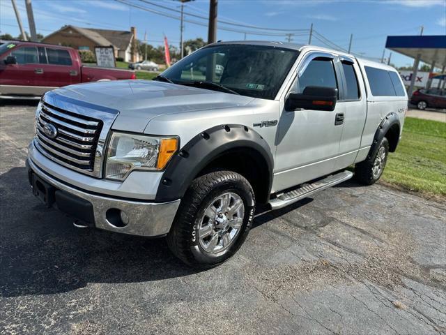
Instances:
[[[245,214],[240,231],[221,253],[208,253],[199,243],[198,226],[206,208],[227,192],[243,200]],[[209,268],[220,265],[238,251],[245,241],[254,218],[254,191],[245,177],[236,172],[218,171],[204,174],[192,181],[181,200],[174,224],[167,234],[167,244],[176,257],[193,267]]]

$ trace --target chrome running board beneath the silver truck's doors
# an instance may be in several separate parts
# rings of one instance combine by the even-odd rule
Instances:
[[[271,209],[283,208],[289,204],[293,204],[293,202],[307,198],[309,195],[312,195],[318,191],[322,191],[325,188],[351,179],[351,177],[353,177],[353,172],[343,171],[337,174],[330,174],[330,176],[314,181],[312,184],[302,184],[300,187],[289,192],[279,193],[277,194],[277,198],[270,200]]]

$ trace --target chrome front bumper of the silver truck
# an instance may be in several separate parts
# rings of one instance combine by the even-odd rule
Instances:
[[[50,176],[31,159],[26,161],[26,166],[30,176],[36,174],[38,179],[52,188],[52,195],[56,198],[51,202],[54,207],[86,222],[86,225],[103,230],[147,237],[165,235],[171,228],[180,204],[180,200],[157,203],[88,193]],[[32,177],[30,183],[33,186]],[[34,192],[38,193],[38,190]],[[120,218],[121,211],[128,217],[126,222]]]

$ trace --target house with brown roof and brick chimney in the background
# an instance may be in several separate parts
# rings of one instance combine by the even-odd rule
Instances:
[[[77,50],[90,50],[95,52],[95,47],[114,46],[115,57],[121,57],[124,61],[139,61],[136,47],[136,29],[130,31],[81,28],[72,25],[63,26],[58,31],[45,36],[41,42],[56,45],[66,45]],[[134,43],[134,54],[132,57],[132,44]]]

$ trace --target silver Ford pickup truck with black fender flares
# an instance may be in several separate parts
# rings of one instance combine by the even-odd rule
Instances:
[[[374,184],[407,105],[390,66],[312,45],[215,43],[155,81],[45,94],[29,182],[78,227],[167,236],[178,258],[211,267],[243,244],[256,204],[285,207],[353,177],[351,165]]]

